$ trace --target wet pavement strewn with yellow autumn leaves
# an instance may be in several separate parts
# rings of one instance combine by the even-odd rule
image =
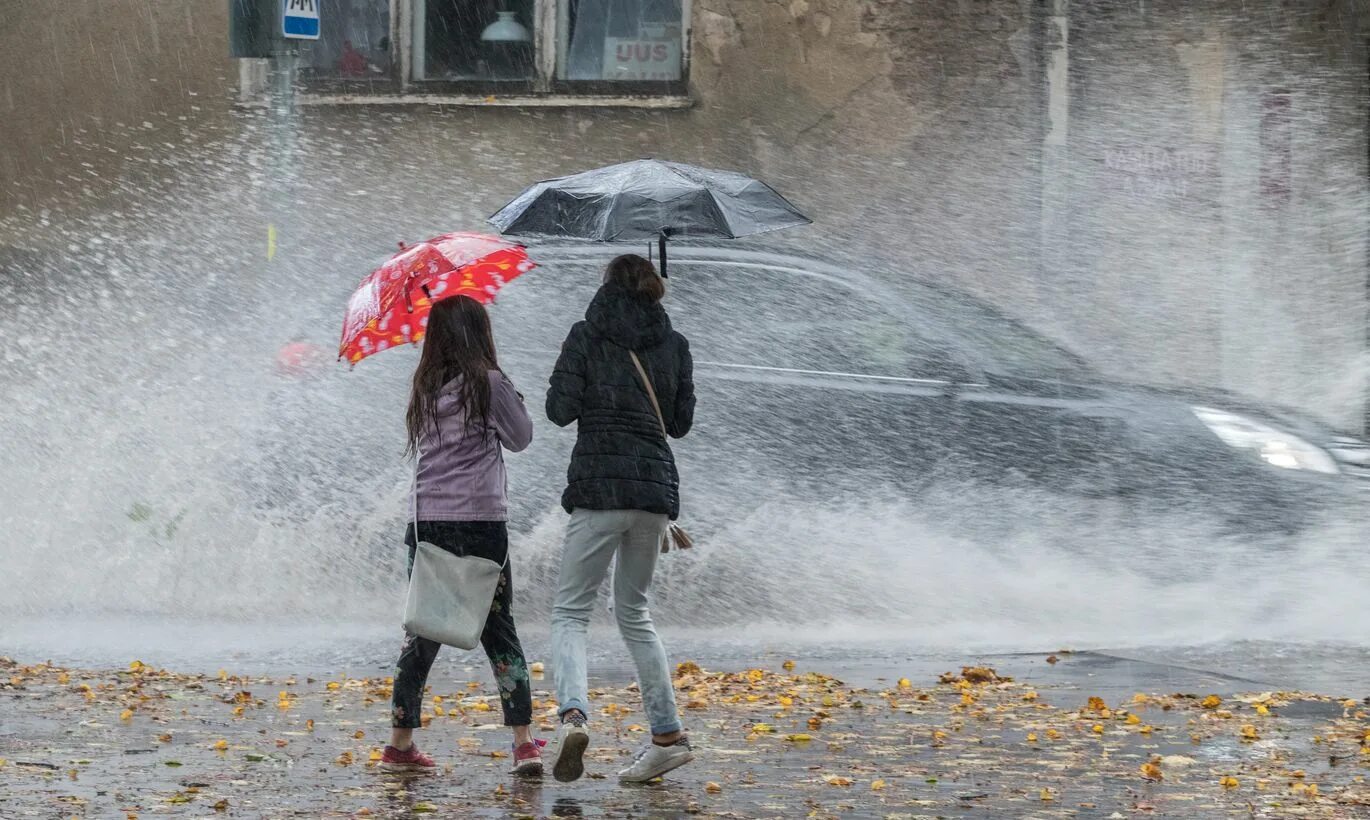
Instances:
[[[1103,653],[973,658],[989,675],[867,654],[838,680],[830,658],[712,658],[726,672],[686,664],[677,678],[699,758],[627,787],[615,772],[645,734],[623,669],[596,682],[589,776],[562,784],[508,773],[489,672],[452,654],[421,734],[443,771],[423,778],[374,765],[384,669],[10,661],[0,817],[1370,816],[1363,702],[1201,669]]]

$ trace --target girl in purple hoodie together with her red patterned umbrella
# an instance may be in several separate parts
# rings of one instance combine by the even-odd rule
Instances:
[[[418,543],[503,565],[481,646],[500,690],[504,724],[514,730],[514,771],[541,773],[543,742],[533,739],[527,663],[514,627],[508,564],[508,498],[504,450],[533,441],[523,396],[500,370],[485,304],[534,266],[525,248],[499,237],[455,233],[400,253],[371,272],[348,300],[338,357],[362,359],[423,342],[406,416],[415,459],[414,520],[406,530],[412,572]],[[395,669],[389,771],[432,771],[414,745],[423,687],[441,645],[406,632]]]

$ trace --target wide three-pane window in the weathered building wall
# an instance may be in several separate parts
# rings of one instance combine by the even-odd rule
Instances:
[[[684,99],[689,5],[690,0],[329,0],[319,40],[297,42],[299,74],[310,94],[353,99]]]

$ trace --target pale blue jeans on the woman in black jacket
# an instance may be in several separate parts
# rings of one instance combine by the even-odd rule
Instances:
[[[552,665],[562,715],[570,709],[580,709],[586,716],[590,713],[586,704],[585,634],[599,586],[608,574],[608,563],[618,554],[614,615],[637,665],[637,686],[643,693],[647,720],[653,735],[680,731],[670,663],[647,611],[647,593],[667,523],[664,515],[636,509],[577,509],[571,513],[552,608]]]

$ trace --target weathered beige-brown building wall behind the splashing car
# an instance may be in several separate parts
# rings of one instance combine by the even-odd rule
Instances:
[[[282,122],[233,107],[222,0],[0,0],[0,244],[122,212],[147,246],[199,231],[248,281],[351,270],[396,238],[480,225],[530,179],[671,156],[754,172],[815,216],[769,242],[896,287],[958,285],[1119,375],[1354,426],[1359,4],[695,0],[688,111],[330,107]],[[1055,7],[1071,31],[1069,141],[1044,163]],[[1275,196],[1260,193],[1262,100],[1278,89],[1293,115]]]

